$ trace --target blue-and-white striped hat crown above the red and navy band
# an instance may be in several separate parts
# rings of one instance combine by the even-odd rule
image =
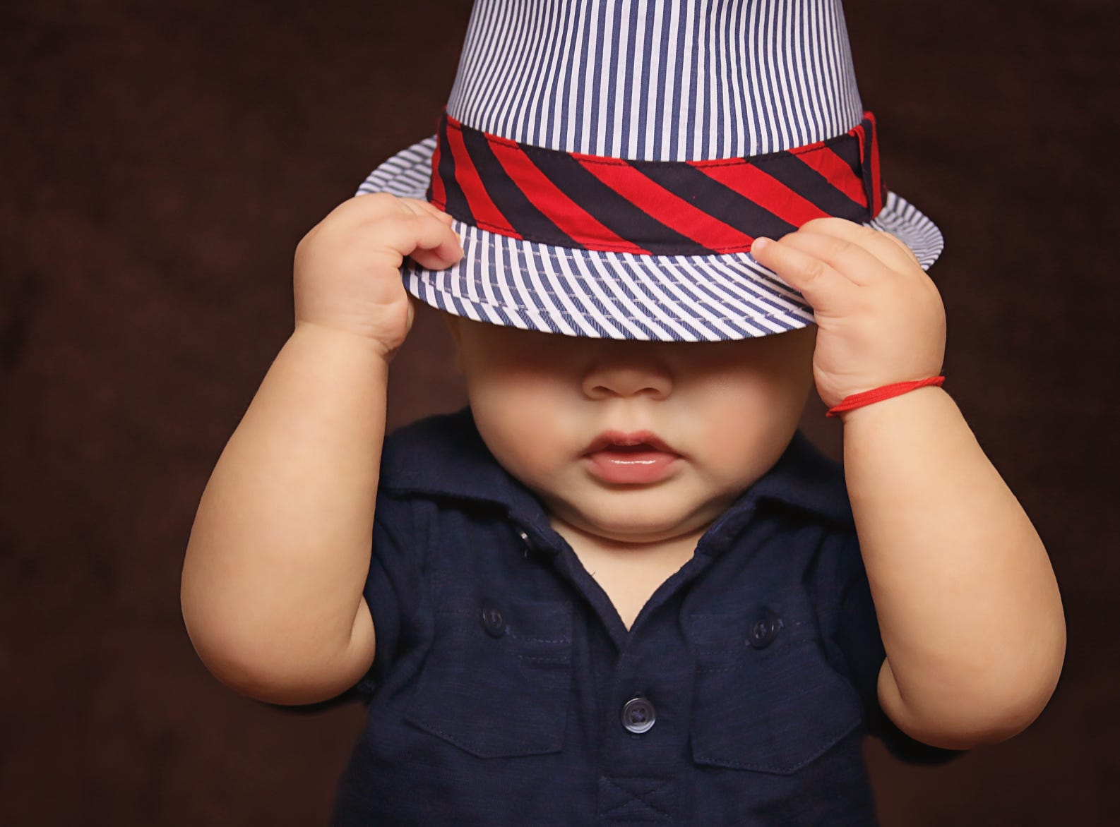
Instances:
[[[840,0],[477,0],[447,111],[648,161],[790,150],[864,113]]]

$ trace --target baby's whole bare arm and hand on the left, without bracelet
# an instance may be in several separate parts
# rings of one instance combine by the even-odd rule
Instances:
[[[389,360],[412,307],[405,255],[461,255],[450,216],[353,198],[296,251],[296,326],[211,474],[183,566],[207,668],[270,703],[334,697],[373,661],[370,565]]]

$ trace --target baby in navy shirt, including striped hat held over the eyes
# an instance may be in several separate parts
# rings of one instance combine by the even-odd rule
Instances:
[[[1056,685],[1053,571],[940,386],[940,235],[877,180],[839,4],[747,0],[720,44],[706,3],[651,6],[538,20],[530,48],[479,2],[439,134],[398,159],[420,191],[355,197],[296,251],[295,330],[203,495],[183,610],[237,692],[368,703],[334,824],[871,824],[866,734],[946,760]],[[655,93],[704,77],[669,72],[706,59],[678,32],[748,73],[711,90],[768,103],[671,119]],[[792,41],[840,82],[769,73]],[[580,48],[609,59],[548,68]],[[568,77],[507,95],[533,119],[495,114],[515,56]],[[594,129],[600,88],[624,135]],[[469,407],[386,440],[410,292]],[[814,387],[842,469],[796,431]]]

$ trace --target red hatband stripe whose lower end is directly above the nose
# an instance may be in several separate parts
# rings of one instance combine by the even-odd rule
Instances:
[[[589,250],[650,253],[648,250],[616,234],[564,195],[563,190],[541,172],[516,143],[494,140],[488,135],[486,142],[506,175],[517,184],[533,206],[580,244],[587,245]]]

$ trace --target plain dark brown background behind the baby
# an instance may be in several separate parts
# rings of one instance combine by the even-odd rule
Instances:
[[[948,238],[946,389],[1046,541],[1070,632],[1024,734],[939,769],[868,745],[889,826],[1120,824],[1114,8],[848,4],[886,180]],[[325,823],[362,708],[220,685],[179,571],[290,332],[296,243],[430,133],[468,10],[0,10],[0,824]],[[421,318],[393,424],[463,402],[447,353]],[[819,405],[806,427],[836,453]]]

